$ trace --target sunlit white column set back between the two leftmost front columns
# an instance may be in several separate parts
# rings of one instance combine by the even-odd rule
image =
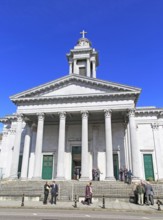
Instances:
[[[30,151],[30,143],[31,143],[31,128],[29,124],[27,124],[26,129],[27,130],[24,141],[21,179],[27,179],[28,164],[29,164],[29,151]]]

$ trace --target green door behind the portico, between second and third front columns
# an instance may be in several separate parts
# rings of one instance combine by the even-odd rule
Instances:
[[[52,179],[53,155],[43,155],[42,179]]]

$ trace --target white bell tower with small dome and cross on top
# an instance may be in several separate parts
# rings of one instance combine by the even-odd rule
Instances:
[[[91,47],[91,42],[85,38],[87,32],[83,30],[80,34],[82,37],[78,40],[77,45],[67,54],[69,74],[96,78],[96,67],[99,65],[98,53]]]

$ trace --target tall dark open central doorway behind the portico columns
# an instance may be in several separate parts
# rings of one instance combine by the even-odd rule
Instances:
[[[79,180],[81,175],[81,146],[72,147],[72,172],[73,180]]]

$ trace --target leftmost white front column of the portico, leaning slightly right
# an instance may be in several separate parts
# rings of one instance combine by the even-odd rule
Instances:
[[[18,178],[18,165],[19,165],[19,154],[20,154],[20,144],[21,144],[21,135],[22,135],[22,123],[23,123],[23,115],[17,115],[17,128],[15,134],[15,141],[13,146],[13,156],[11,163],[11,178]]]

